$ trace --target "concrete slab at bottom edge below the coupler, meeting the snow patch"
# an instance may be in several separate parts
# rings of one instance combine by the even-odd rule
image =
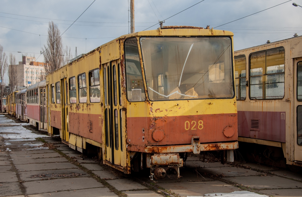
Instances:
[[[208,193],[220,192],[229,193],[238,191],[237,187],[228,185],[221,181],[207,181],[207,182],[174,182],[174,183],[160,183],[157,184],[167,190],[172,190],[179,196],[201,196]]]

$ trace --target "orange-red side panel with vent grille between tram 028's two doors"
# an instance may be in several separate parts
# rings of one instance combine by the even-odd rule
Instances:
[[[69,132],[102,143],[102,116],[100,114],[69,112]]]

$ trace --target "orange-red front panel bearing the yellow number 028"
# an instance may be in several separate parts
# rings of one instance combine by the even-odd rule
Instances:
[[[201,143],[237,140],[237,114],[209,114],[174,117],[127,117],[127,143],[134,146],[191,144],[192,136]],[[223,129],[232,125],[234,135]],[[156,141],[154,140],[161,140]]]

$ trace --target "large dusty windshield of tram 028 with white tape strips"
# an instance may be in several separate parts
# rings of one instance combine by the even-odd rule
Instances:
[[[229,37],[141,37],[150,100],[232,98]]]

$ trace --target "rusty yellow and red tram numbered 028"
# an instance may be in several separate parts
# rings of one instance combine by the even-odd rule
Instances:
[[[188,152],[226,150],[233,161],[234,80],[230,31],[127,34],[47,75],[48,132],[124,173],[179,178]]]

